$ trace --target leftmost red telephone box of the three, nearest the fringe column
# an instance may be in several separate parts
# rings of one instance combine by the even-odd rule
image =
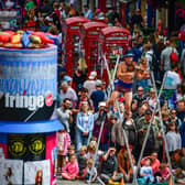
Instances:
[[[67,18],[63,21],[62,59],[69,76],[73,76],[78,65],[80,26],[86,22],[90,20],[83,17]]]

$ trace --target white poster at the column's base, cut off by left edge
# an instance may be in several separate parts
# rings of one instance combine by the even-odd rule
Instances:
[[[23,161],[22,160],[0,160],[0,184],[22,184]]]

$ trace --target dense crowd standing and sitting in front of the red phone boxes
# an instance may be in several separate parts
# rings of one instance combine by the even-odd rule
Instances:
[[[179,67],[182,54],[175,45],[173,47],[177,61],[171,57],[172,52],[166,52],[172,50],[170,43],[173,43],[173,39],[166,41],[166,44],[163,43],[161,51],[155,47],[156,43],[151,43],[150,37],[146,42],[140,45],[141,56],[138,58],[138,65],[133,62],[133,50],[124,53],[123,62],[118,66],[117,78],[120,74],[124,77],[115,81],[116,88],[112,90],[119,92],[119,96],[112,104],[109,104],[110,87],[107,87],[104,79],[98,79],[97,72],[90,72],[88,75],[88,66],[83,65],[80,59],[73,77],[66,73],[61,74],[61,107],[57,109],[57,116],[65,128],[57,133],[57,144],[62,150],[62,153],[58,150],[58,173],[63,178],[88,182],[91,175],[92,182],[100,179],[105,184],[132,183],[145,140],[137,174],[138,181],[141,184],[167,184],[171,179],[171,164],[175,182],[185,183],[185,86],[182,77],[184,73]],[[144,50],[149,45],[151,53],[160,53],[160,73],[150,65],[153,58],[148,57],[148,50]],[[133,63],[137,68],[131,67]],[[144,64],[148,70],[143,72],[145,67],[141,68]],[[167,67],[164,69],[164,66]],[[122,73],[121,69],[126,72]],[[137,78],[138,73],[141,73],[142,78]],[[131,79],[132,86],[128,88],[124,83],[122,87],[124,79]],[[156,87],[153,86],[154,83]],[[161,86],[162,95],[157,98],[156,92]],[[97,145],[99,137],[100,144]],[[167,161],[166,152],[171,161]]]

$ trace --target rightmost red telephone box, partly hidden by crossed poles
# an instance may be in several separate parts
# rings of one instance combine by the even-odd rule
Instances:
[[[99,52],[104,62],[104,55],[109,64],[109,69],[113,69],[117,62],[117,54],[120,54],[120,61],[123,59],[124,51],[131,46],[131,34],[128,30],[117,26],[108,26],[100,31],[99,35]],[[102,63],[105,64],[105,63]],[[104,79],[108,84],[107,70],[101,72]]]

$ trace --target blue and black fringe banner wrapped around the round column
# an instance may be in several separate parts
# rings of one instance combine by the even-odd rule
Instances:
[[[51,120],[57,92],[56,48],[0,50],[0,120]]]

